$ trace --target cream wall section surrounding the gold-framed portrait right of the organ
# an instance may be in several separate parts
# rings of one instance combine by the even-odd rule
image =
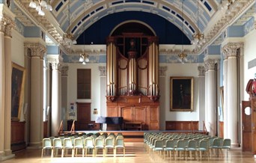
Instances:
[[[165,81],[165,120],[199,120],[198,105],[198,64],[160,64],[167,66]],[[170,77],[192,76],[194,77],[194,111],[170,111]],[[161,91],[161,90],[160,90]],[[160,97],[161,98],[161,97]]]

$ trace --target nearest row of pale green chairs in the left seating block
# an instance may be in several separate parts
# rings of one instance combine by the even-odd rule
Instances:
[[[98,150],[103,150],[103,156],[108,154],[108,150],[113,150],[113,155],[117,155],[118,149],[123,149],[123,155],[125,156],[124,137],[122,135],[100,135],[98,137],[80,136],[78,138],[43,138],[42,157],[46,150],[51,150],[51,156],[54,153],[58,154],[58,150],[61,150],[61,157],[67,156],[69,150],[71,150],[71,156],[77,156],[78,151],[82,150],[82,157],[88,156],[88,152],[91,152],[91,156],[97,156]]]

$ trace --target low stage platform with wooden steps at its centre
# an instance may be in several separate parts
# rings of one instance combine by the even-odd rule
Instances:
[[[73,133],[107,133],[109,135],[109,133],[115,133],[115,135],[117,135],[118,133],[122,133],[122,135],[124,135],[124,141],[125,142],[143,142],[143,138],[144,138],[144,133],[145,132],[162,132],[162,133],[201,133],[201,134],[205,134],[204,131],[192,131],[192,130],[152,130],[152,131],[148,131],[148,130],[142,130],[142,131],[127,131],[127,130],[121,130],[121,131],[97,131],[97,130],[90,130],[90,131],[75,131]],[[70,132],[64,132],[64,133],[70,133]]]

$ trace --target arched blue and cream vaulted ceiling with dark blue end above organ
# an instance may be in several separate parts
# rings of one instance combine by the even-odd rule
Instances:
[[[156,31],[160,43],[180,44],[180,32],[203,32],[218,10],[220,0],[51,0],[52,16],[64,32],[71,32],[79,43],[106,43],[106,36],[122,21],[136,19]],[[139,11],[141,13],[137,13]],[[100,30],[100,31],[99,31]],[[166,33],[168,32],[168,33]],[[177,37],[179,36],[179,37]],[[175,39],[173,37],[176,37]]]

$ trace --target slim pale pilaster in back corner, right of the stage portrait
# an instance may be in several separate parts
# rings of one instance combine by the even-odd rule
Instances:
[[[204,129],[205,120],[205,70],[204,67],[198,67],[198,100],[199,100],[199,130]]]

